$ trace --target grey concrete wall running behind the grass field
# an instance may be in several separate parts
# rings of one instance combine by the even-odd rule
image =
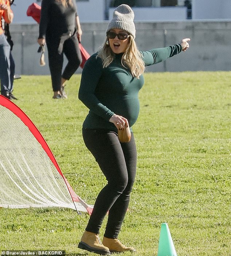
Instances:
[[[105,40],[108,22],[82,23],[82,44],[93,54]],[[150,66],[147,71],[185,71],[185,70],[230,70],[231,20],[206,22],[136,22],[136,43],[140,50],[179,43],[182,38],[191,38],[190,49],[169,60]],[[50,74],[47,65],[39,66],[37,53],[38,25],[12,24],[10,26],[14,41],[13,57],[17,74]],[[64,64],[66,63],[66,60]],[[77,73],[81,72],[81,68]]]

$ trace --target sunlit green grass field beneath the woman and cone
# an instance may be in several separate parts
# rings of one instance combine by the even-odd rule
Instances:
[[[88,110],[78,100],[80,79],[67,83],[67,100],[53,100],[50,76],[22,76],[15,103],[38,127],[75,192],[94,204],[106,180],[83,144]],[[137,177],[120,240],[134,246],[136,256],[156,256],[167,222],[178,256],[231,256],[231,72],[145,73],[140,106],[133,126]],[[95,255],[77,248],[85,213],[1,208],[0,216],[0,251]]]

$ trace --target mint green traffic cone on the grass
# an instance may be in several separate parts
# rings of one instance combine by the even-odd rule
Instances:
[[[177,256],[167,223],[161,224],[157,256]]]

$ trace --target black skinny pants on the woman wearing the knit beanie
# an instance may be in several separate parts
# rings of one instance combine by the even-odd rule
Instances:
[[[99,234],[103,219],[109,211],[104,236],[117,238],[136,176],[134,135],[132,133],[130,142],[120,143],[113,131],[83,129],[83,140],[107,179],[107,185],[97,196],[86,231]]]

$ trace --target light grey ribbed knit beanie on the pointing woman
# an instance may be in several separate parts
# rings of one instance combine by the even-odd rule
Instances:
[[[133,22],[134,12],[127,4],[119,5],[113,12],[113,18],[107,26],[106,33],[111,29],[122,29],[136,38],[136,28]]]

